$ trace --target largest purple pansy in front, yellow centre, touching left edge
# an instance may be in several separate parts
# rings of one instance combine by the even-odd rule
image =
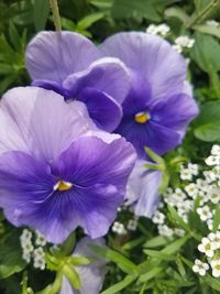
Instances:
[[[132,145],[94,131],[81,102],[67,105],[36,87],[4,95],[0,124],[0,207],[8,220],[52,242],[78,226],[91,238],[106,235],[134,165]]]

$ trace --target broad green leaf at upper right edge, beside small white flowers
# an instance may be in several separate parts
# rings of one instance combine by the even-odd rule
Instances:
[[[210,35],[196,33],[195,45],[191,51],[193,59],[199,67],[211,73],[220,70],[220,44]]]

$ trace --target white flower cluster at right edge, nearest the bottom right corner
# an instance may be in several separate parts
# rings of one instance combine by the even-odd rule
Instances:
[[[201,243],[198,246],[198,250],[201,253],[205,253],[207,258],[207,262],[201,262],[200,260],[195,260],[195,264],[193,266],[193,271],[205,275],[206,272],[211,268],[212,276],[220,276],[220,258],[219,258],[219,249],[220,249],[220,231],[210,232],[207,237],[201,239]]]

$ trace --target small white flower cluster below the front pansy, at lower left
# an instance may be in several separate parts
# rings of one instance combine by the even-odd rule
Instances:
[[[44,236],[37,230],[33,236],[32,231],[24,229],[22,231],[22,235],[20,236],[20,242],[23,251],[22,252],[23,260],[30,263],[31,259],[33,258],[33,266],[35,269],[40,269],[43,271],[46,265],[45,252],[44,252],[46,240]]]

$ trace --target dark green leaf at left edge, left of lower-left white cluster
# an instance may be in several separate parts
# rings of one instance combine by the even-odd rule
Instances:
[[[0,279],[21,272],[26,266],[25,261],[22,259],[19,238],[19,232],[12,230],[0,247]]]

